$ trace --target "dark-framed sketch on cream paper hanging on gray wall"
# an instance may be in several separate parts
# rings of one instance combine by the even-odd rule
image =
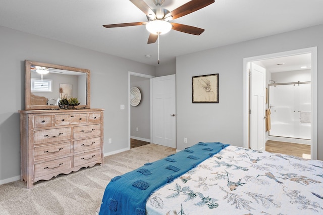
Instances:
[[[219,73],[192,77],[193,103],[219,103]]]

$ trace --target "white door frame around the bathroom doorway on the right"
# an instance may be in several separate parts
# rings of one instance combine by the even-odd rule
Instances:
[[[311,53],[311,159],[317,159],[317,46],[271,53],[243,59],[243,147],[249,147],[249,70],[248,64],[270,58]]]

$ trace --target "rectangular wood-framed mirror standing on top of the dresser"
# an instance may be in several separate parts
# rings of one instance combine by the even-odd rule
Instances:
[[[59,109],[62,98],[76,97],[78,105],[90,108],[90,70],[25,60],[25,109]]]

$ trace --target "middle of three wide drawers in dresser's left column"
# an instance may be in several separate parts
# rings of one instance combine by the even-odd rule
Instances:
[[[34,148],[35,161],[71,153],[71,142],[52,144]]]

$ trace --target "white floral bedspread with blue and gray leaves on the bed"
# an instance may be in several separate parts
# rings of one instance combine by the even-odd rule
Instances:
[[[323,162],[228,146],[153,192],[147,214],[323,214]]]

